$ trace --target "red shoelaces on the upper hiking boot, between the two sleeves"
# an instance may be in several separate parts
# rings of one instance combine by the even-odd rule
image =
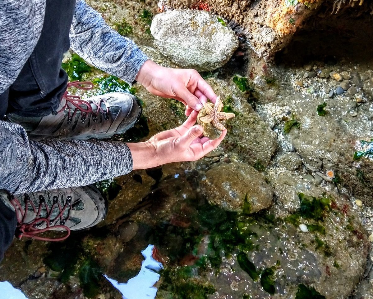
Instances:
[[[101,113],[103,113],[104,118],[106,120],[109,119],[109,112],[110,112],[109,107],[106,105],[107,106],[106,111],[104,111],[104,109],[101,108],[102,103],[107,104],[104,99],[100,99],[100,102],[95,103],[97,105],[97,111],[94,112],[94,110],[92,109],[92,106],[91,106],[91,104],[93,103],[92,101],[87,102],[87,101],[82,100],[80,96],[69,95],[68,88],[70,88],[70,87],[75,87],[75,88],[79,88],[79,89],[82,89],[82,90],[89,90],[89,89],[93,88],[93,83],[89,82],[89,81],[84,81],[84,82],[73,81],[73,82],[68,83],[68,86],[67,86],[65,92],[62,95],[62,98],[66,100],[66,103],[59,111],[56,112],[56,114],[57,114],[59,112],[64,111],[67,108],[68,109],[68,121],[67,121],[68,124],[70,124],[72,122],[72,120],[73,120],[76,112],[78,112],[78,110],[81,112],[81,115],[82,115],[82,119],[81,119],[82,123],[85,123],[88,113],[91,113],[93,115],[93,121],[97,121],[99,111],[101,111]],[[87,108],[84,108],[83,105],[86,105]],[[72,112],[72,110],[73,110],[73,112]]]

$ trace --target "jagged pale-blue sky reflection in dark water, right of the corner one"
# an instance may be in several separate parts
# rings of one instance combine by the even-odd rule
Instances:
[[[141,251],[145,258],[141,263],[141,270],[137,276],[129,279],[127,283],[118,283],[118,281],[104,275],[122,293],[124,299],[154,299],[156,297],[157,288],[154,287],[154,284],[159,280],[160,274],[154,271],[163,269],[163,265],[152,257],[153,248],[154,245],[148,245],[146,249]]]

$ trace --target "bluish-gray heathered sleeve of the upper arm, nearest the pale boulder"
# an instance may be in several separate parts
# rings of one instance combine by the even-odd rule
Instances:
[[[108,26],[84,0],[77,0],[70,29],[70,47],[93,66],[131,84],[149,58]]]

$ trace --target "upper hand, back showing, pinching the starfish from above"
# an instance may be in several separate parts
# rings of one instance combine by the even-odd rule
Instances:
[[[200,111],[203,103],[217,96],[211,86],[192,69],[170,69],[147,60],[136,76],[136,80],[154,95],[175,98],[186,105],[185,114]]]

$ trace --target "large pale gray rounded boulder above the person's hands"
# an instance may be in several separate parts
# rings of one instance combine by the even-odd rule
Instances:
[[[223,66],[238,47],[231,27],[209,12],[169,10],[156,15],[150,26],[154,46],[182,67],[199,71]]]

